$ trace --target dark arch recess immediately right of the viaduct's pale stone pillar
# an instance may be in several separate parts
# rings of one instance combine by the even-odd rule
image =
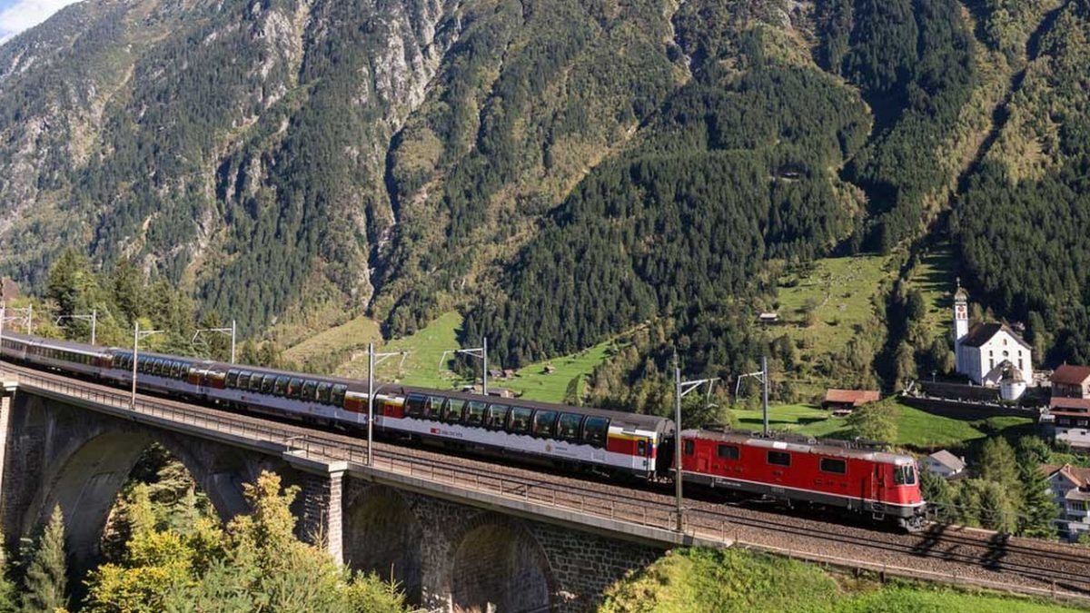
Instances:
[[[411,604],[422,594],[423,527],[404,497],[375,485],[344,513],[344,562],[354,570],[395,580]]]

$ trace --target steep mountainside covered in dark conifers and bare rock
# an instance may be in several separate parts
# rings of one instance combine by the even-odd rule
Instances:
[[[941,369],[895,281],[953,239],[983,306],[1090,359],[1088,10],[86,0],[0,47],[0,273],[41,291],[76,247],[281,345],[457,310],[505,366],[638,329],[607,402],[674,347],[694,373]],[[889,278],[847,349],[754,326],[785,274],[861,252]]]

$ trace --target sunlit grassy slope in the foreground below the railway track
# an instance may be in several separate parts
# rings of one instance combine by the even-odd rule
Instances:
[[[675,550],[606,592],[600,613],[1068,613],[1043,600],[927,584],[877,584],[741,550]]]

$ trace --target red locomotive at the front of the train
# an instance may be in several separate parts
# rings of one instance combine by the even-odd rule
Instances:
[[[686,482],[869,513],[909,530],[925,521],[919,469],[910,456],[855,443],[715,430],[686,430],[681,440]]]

